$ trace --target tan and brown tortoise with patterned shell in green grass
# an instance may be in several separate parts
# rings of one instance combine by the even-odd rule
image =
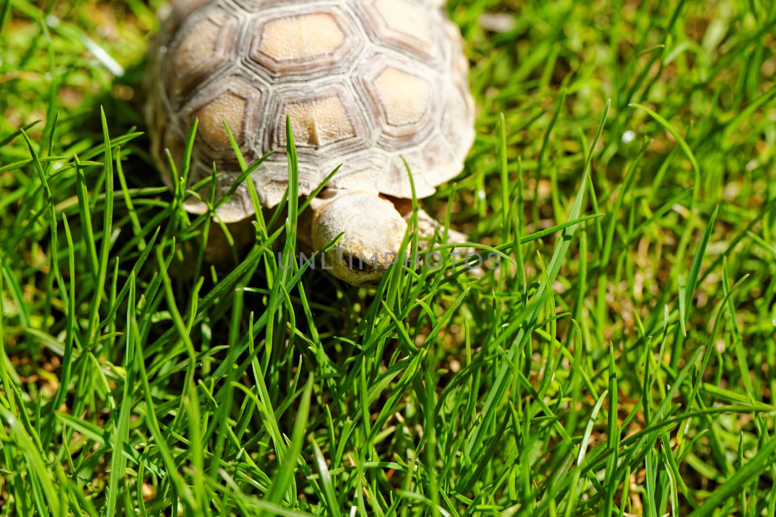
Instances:
[[[288,118],[300,196],[316,191],[341,166],[311,200],[300,240],[321,250],[343,233],[338,248],[324,256],[331,273],[354,285],[378,283],[407,232],[413,184],[417,198],[433,194],[462,171],[474,140],[469,64],[443,3],[168,5],[149,51],[146,106],[152,155],[165,183],[172,186],[167,151],[179,166],[198,119],[189,184],[208,183],[202,180],[213,167],[219,174],[185,209],[207,213],[201,200],[219,200],[242,173],[225,126],[244,160],[275,151],[251,180],[263,208],[278,205],[289,186]],[[249,189],[241,184],[213,216],[237,223],[254,212]],[[426,212],[417,213],[422,235],[440,227]],[[449,240],[463,242],[466,236],[450,230]]]

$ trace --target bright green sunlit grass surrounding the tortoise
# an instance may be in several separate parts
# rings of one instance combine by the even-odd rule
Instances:
[[[509,261],[377,291],[203,263],[159,3],[0,0],[0,514],[776,515],[776,3],[451,2]]]

